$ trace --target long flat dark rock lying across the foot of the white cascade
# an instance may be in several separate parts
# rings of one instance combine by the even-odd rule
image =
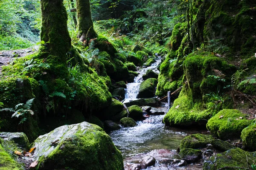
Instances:
[[[138,99],[138,100],[133,100],[130,102],[125,103],[127,107],[131,105],[138,105],[138,106],[151,106],[151,107],[157,107],[160,105],[160,102],[157,98],[149,98],[149,99]]]

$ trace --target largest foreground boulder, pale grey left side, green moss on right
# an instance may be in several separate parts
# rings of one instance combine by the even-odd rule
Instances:
[[[102,128],[88,122],[64,125],[39,136],[34,159],[38,170],[122,170],[119,150]]]

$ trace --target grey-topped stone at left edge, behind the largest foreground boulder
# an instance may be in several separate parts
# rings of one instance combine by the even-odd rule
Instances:
[[[13,141],[17,147],[29,150],[29,139],[23,132],[1,132],[0,138],[2,138],[3,141]]]

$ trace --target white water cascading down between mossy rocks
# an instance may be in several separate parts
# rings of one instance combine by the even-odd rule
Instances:
[[[130,102],[131,100],[137,99],[137,95],[139,94],[139,89],[140,89],[140,83],[143,82],[142,76],[146,74],[146,72],[149,69],[153,70],[155,73],[159,73],[159,71],[157,70],[157,66],[160,64],[160,62],[161,62],[161,59],[158,58],[156,59],[156,62],[154,62],[150,67],[142,68],[139,71],[137,71],[139,75],[135,77],[134,82],[128,83],[126,85],[127,88],[125,89],[125,100],[123,103],[127,103],[127,102]]]

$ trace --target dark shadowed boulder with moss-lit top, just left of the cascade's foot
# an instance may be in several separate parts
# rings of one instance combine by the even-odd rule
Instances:
[[[99,117],[102,119],[111,120],[111,118],[116,114],[120,113],[123,108],[124,108],[124,105],[121,102],[112,98],[108,108],[105,108],[102,111],[102,113],[98,113],[97,115],[99,115]]]

